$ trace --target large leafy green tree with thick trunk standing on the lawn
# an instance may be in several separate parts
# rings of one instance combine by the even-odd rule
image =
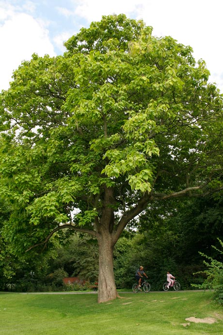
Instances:
[[[223,101],[190,47],[142,21],[102,17],[65,46],[0,95],[2,234],[20,250],[67,228],[96,237],[103,302],[127,224],[154,200],[221,189]]]

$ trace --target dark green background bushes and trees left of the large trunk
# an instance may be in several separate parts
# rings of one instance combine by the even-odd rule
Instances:
[[[67,242],[67,241],[66,241]],[[53,252],[36,254],[32,251],[26,260],[8,254],[1,263],[0,290],[16,292],[72,291],[91,289],[98,280],[98,248],[95,240],[88,237],[70,238],[66,245],[55,246]],[[6,265],[5,265],[6,264]],[[31,276],[30,271],[34,270]],[[64,277],[78,277],[83,284],[64,285]]]

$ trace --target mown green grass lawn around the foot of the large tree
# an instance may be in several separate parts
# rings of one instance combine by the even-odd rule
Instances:
[[[0,335],[207,335],[223,333],[223,308],[210,291],[97,294],[0,293]],[[185,318],[217,320],[190,323]]]

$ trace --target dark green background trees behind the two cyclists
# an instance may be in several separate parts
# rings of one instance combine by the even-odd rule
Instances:
[[[125,279],[123,287],[131,286],[139,263],[146,269],[153,290],[162,289],[168,269],[183,289],[202,284],[204,274],[194,275],[204,270],[200,253],[222,261],[211,247],[223,235],[222,201],[222,197],[206,196],[150,205],[140,215],[137,233],[129,241],[122,271],[131,280]]]

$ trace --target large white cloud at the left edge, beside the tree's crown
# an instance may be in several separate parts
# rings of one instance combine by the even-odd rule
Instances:
[[[48,31],[40,21],[24,13],[7,12],[8,19],[0,27],[0,90],[7,89],[12,70],[33,53],[55,55]]]

